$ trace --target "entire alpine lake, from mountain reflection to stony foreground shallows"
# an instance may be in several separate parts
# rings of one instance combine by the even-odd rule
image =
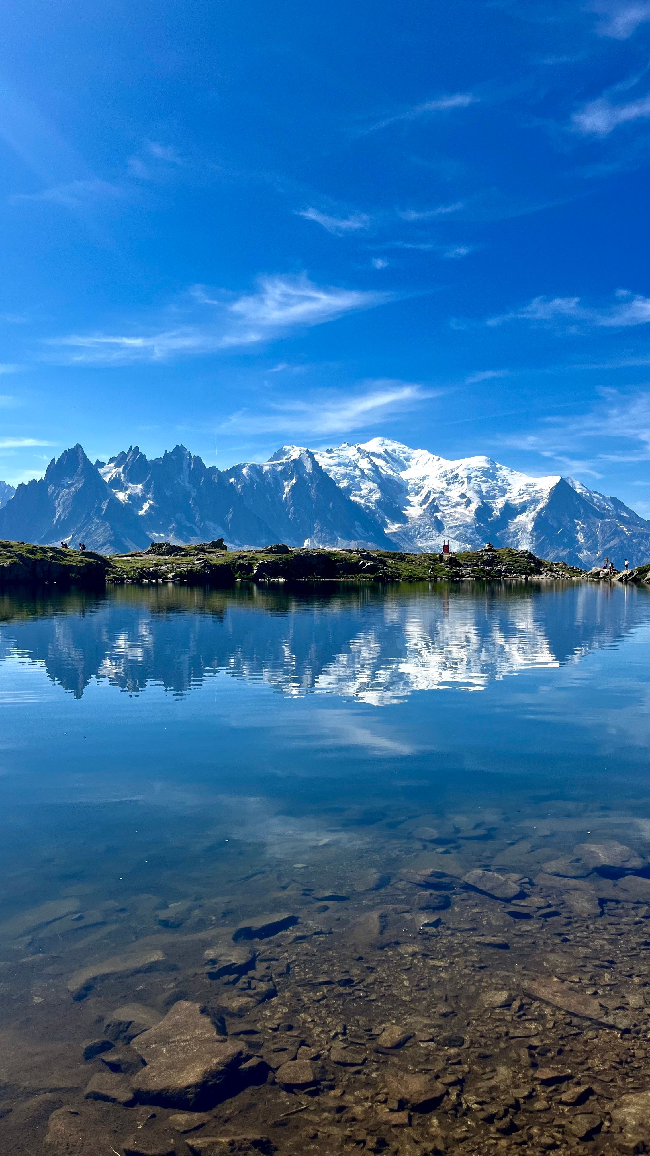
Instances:
[[[650,1151],[648,590],[0,628],[0,1151]]]

